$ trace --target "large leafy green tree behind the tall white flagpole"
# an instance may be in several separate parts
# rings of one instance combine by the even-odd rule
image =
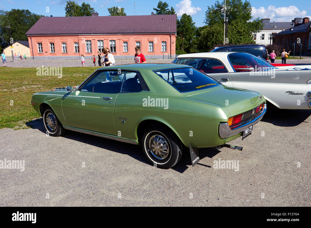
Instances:
[[[253,19],[252,7],[248,1],[226,0],[226,17],[228,17],[228,40],[230,44],[254,43],[253,35],[262,30],[262,20]],[[197,34],[199,50],[207,51],[224,40],[225,1],[217,1],[207,7],[204,28]]]

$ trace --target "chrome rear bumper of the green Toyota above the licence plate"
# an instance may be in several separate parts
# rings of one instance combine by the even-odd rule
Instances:
[[[240,132],[243,132],[248,127],[258,123],[262,119],[266,111],[267,111],[267,104],[264,104],[262,111],[259,113],[257,117],[249,120],[248,122],[244,123],[242,126],[239,126],[234,129],[231,129],[229,127],[229,123],[219,123],[219,136],[222,139],[225,139],[225,138],[228,138],[229,136],[234,136]]]

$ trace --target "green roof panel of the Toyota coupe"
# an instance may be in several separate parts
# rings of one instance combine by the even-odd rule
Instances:
[[[180,67],[189,68],[190,66],[174,63],[129,63],[129,64],[106,66],[101,67],[99,69],[160,70],[160,69],[171,69]]]

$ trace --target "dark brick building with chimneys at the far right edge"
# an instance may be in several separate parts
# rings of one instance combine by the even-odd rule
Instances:
[[[295,55],[301,53],[304,55],[311,54],[311,22],[308,17],[295,18],[292,20],[294,26],[277,34],[274,34],[273,43],[285,48],[285,51],[291,51],[291,55],[294,52],[295,43]],[[299,39],[300,38],[300,41]],[[298,42],[300,42],[301,47]]]

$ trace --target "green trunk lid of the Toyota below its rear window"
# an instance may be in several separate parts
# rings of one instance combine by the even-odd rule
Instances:
[[[205,89],[188,97],[222,105],[228,109],[232,116],[251,110],[265,101],[258,92],[226,86]]]

